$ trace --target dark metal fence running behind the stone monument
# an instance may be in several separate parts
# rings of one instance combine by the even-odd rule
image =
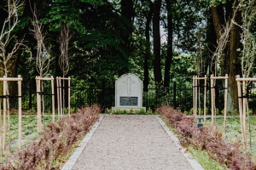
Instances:
[[[28,83],[28,82],[22,82]],[[22,108],[25,110],[37,108],[37,92],[34,82],[22,85]],[[56,87],[55,87],[56,89]],[[256,110],[256,89],[254,86],[248,88],[249,108]],[[56,90],[55,90],[56,94]],[[67,93],[66,93],[67,94]],[[102,109],[110,109],[114,106],[114,88],[88,88],[86,86],[73,84],[71,86],[71,106],[80,108],[92,104],[97,104]],[[67,99],[67,98],[66,98]],[[203,107],[203,88],[201,88],[201,97],[199,104]],[[147,109],[155,110],[160,105],[173,106],[181,111],[191,111],[193,107],[193,88],[176,85],[172,83],[168,89],[148,88],[148,92],[143,92],[143,106]],[[207,113],[210,113],[210,88],[207,88]],[[224,91],[217,90],[216,101],[219,113],[224,109]],[[55,108],[56,108],[55,98]],[[44,84],[44,106],[45,111],[51,111],[51,88],[50,82]]]

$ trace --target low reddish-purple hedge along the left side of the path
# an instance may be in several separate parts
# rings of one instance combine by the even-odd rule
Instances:
[[[7,158],[0,169],[60,169],[59,159],[65,157],[73,144],[90,130],[99,112],[100,108],[93,105],[90,109],[81,108],[70,117],[63,116],[57,122],[50,122],[38,139]]]

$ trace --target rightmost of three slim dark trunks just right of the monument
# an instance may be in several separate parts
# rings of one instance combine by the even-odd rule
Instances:
[[[166,65],[165,65],[165,80],[164,87],[166,89],[170,88],[170,70],[172,64],[172,2],[171,0],[166,0],[166,9],[167,9],[167,54],[166,54]],[[167,91],[167,93],[169,90]]]

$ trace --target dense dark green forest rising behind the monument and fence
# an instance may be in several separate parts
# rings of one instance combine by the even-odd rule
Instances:
[[[119,76],[131,72],[143,80],[144,92],[152,85],[167,93],[172,82],[191,85],[193,75],[229,74],[228,111],[233,111],[238,107],[236,75],[244,74],[243,54],[250,51],[250,63],[255,62],[255,0],[4,0],[0,2],[2,34],[8,2],[22,5],[5,50],[0,38],[0,54],[9,54],[17,42],[26,45],[7,63],[7,76],[20,74],[25,82],[39,74],[36,60],[27,53],[33,57],[38,52],[32,33],[34,14],[51,58],[45,75],[63,76],[57,40],[61,27],[67,26],[72,37],[66,77],[84,86],[113,88]],[[245,15],[250,10],[254,13]],[[244,43],[244,30],[250,32],[252,46]],[[247,76],[253,77],[253,66],[250,69]],[[2,69],[0,77],[4,74]],[[17,93],[15,85],[9,88],[10,95]]]

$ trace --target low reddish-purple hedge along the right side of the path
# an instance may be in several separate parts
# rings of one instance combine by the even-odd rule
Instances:
[[[176,133],[181,136],[182,145],[205,150],[209,157],[230,169],[256,169],[249,153],[240,150],[240,142],[225,142],[222,133],[212,126],[198,128],[194,124],[193,117],[189,118],[170,106],[162,105],[157,111],[164,116],[166,122],[176,128]]]

